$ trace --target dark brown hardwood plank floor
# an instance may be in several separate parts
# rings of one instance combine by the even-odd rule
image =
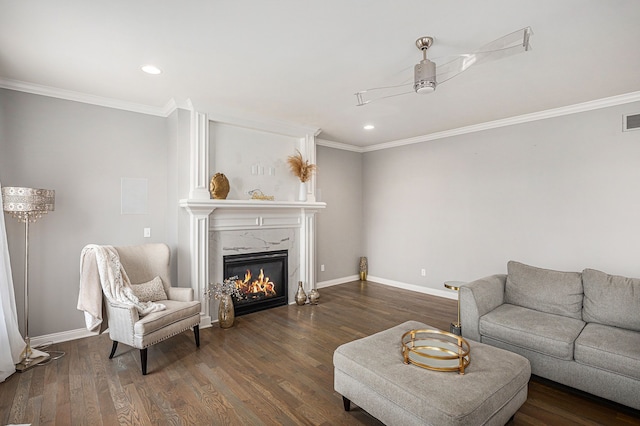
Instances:
[[[380,425],[345,412],[333,390],[333,351],[407,320],[448,329],[456,302],[371,282],[320,290],[316,306],[289,305],[185,332],[139,351],[108,335],[52,346],[66,356],[0,383],[0,425]],[[448,374],[448,373],[443,373]],[[640,413],[532,379],[510,425],[640,425]]]

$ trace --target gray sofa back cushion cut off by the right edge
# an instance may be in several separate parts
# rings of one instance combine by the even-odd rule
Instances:
[[[582,271],[586,322],[640,331],[640,279]]]

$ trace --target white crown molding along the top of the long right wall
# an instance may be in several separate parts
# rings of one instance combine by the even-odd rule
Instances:
[[[488,121],[486,123],[474,124],[473,126],[460,127],[457,129],[445,130],[408,139],[400,139],[385,142],[377,145],[366,146],[362,152],[379,151],[382,149],[396,148],[404,145],[428,142],[436,139],[448,138],[451,136],[464,135],[468,133],[481,132],[483,130],[497,129],[499,127],[513,126],[515,124],[529,123],[532,121],[546,120],[548,118],[561,117],[564,115],[577,114],[580,112],[593,111],[601,108],[608,108],[617,105],[624,105],[631,102],[640,101],[640,91],[626,93],[624,95],[611,96],[594,101],[582,102],[575,105],[568,105],[560,108],[534,112],[531,114],[518,115],[501,120]]]

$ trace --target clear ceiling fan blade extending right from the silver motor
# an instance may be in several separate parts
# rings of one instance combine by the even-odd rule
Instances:
[[[473,53],[457,56],[443,64],[438,64],[438,60],[434,59],[437,64],[436,79],[438,84],[455,77],[472,65],[484,64],[531,50],[529,38],[532,34],[531,27],[526,27],[487,43]]]

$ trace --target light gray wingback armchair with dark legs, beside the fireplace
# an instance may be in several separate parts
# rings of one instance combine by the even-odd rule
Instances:
[[[165,310],[149,313],[143,317],[135,307],[110,302],[103,298],[108,318],[109,336],[113,340],[109,359],[113,358],[118,342],[140,349],[142,374],[147,374],[147,348],[169,337],[193,328],[196,346],[200,346],[200,301],[193,300],[193,289],[171,287],[169,261],[171,252],[166,244],[144,244],[139,246],[114,247],[120,263],[132,284],[146,283],[160,277],[167,300],[160,300]],[[95,268],[95,254],[89,253],[83,262],[83,274]]]

